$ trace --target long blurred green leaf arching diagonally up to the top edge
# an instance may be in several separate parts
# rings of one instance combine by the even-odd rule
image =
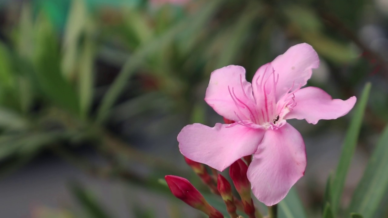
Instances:
[[[139,48],[133,55],[131,55],[128,58],[128,61],[125,62],[123,68],[114,80],[108,92],[104,95],[101,101],[101,105],[98,109],[97,122],[102,123],[105,121],[105,119],[107,119],[109,116],[109,110],[118,99],[120,93],[123,91],[123,88],[127,84],[127,80],[135,72],[135,69],[143,64],[147,55],[153,54],[154,52],[160,50],[161,47],[163,47],[163,45],[166,43],[173,42],[177,34],[187,29],[188,26],[196,24],[196,21],[199,19],[199,17],[204,21],[203,25],[206,24],[206,21],[208,21],[208,19],[213,16],[215,11],[218,9],[218,6],[222,2],[222,0],[210,1],[203,7],[203,10],[199,10],[197,14],[193,14],[191,17],[178,22],[178,24],[170,28],[160,37],[147,43],[147,45]],[[207,19],[203,19],[203,17]]]

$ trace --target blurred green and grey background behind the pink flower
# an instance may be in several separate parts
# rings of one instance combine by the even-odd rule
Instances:
[[[203,100],[214,69],[244,66],[249,81],[296,43],[320,56],[308,85],[340,99],[373,85],[344,205],[388,120],[387,0],[2,0],[0,11],[4,218],[203,217],[172,196],[169,174],[222,208],[176,136],[222,122]],[[351,116],[291,121],[307,146],[296,188],[308,217]]]

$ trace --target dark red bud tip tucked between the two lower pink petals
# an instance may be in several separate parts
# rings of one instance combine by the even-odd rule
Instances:
[[[250,183],[246,175],[247,171],[248,166],[244,163],[244,161],[242,161],[242,159],[238,159],[230,165],[229,175],[230,178],[232,178],[237,191],[241,190],[241,188],[250,187]]]

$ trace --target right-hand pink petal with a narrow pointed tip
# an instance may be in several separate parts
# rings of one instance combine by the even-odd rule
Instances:
[[[306,87],[295,92],[296,106],[285,119],[306,119],[308,123],[317,124],[320,119],[337,119],[347,114],[356,103],[356,97],[348,100],[332,99],[324,90]]]

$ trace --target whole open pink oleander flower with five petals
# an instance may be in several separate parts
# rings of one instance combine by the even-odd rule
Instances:
[[[219,171],[253,154],[247,176],[253,194],[267,206],[277,204],[304,175],[306,151],[298,130],[287,119],[336,119],[347,114],[356,97],[332,99],[317,87],[306,87],[319,66],[315,50],[302,43],[260,67],[252,83],[241,66],[211,73],[205,101],[235,123],[185,126],[177,139],[187,158]]]

